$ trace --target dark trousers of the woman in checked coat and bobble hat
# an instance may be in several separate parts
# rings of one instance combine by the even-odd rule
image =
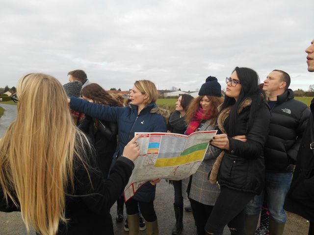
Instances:
[[[193,199],[190,199],[190,203],[195,220],[197,235],[206,235],[205,225],[214,207],[194,201]]]

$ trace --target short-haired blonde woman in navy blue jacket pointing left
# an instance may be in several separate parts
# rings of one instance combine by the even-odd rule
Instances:
[[[134,83],[130,93],[131,105],[110,107],[71,97],[70,107],[93,118],[118,123],[120,156],[124,146],[134,137],[134,132],[166,132],[166,122],[162,115],[167,113],[157,108],[156,86],[149,80]],[[154,209],[156,185],[147,182],[139,188],[134,197],[126,203],[130,235],[139,233],[138,206],[146,221],[148,234],[158,234],[157,216]]]

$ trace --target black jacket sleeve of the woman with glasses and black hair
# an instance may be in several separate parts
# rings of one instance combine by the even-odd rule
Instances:
[[[229,153],[246,159],[256,159],[261,156],[268,136],[270,111],[266,104],[256,112],[254,123],[246,135],[246,142],[229,139]]]

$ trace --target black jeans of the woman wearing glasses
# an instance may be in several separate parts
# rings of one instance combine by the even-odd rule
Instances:
[[[209,234],[222,235],[228,224],[232,235],[246,235],[245,206],[253,197],[254,193],[222,186],[205,230]]]

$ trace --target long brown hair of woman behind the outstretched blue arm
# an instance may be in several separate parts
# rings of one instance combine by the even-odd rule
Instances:
[[[110,106],[123,106],[123,101],[119,100],[119,98],[112,96],[108,92],[105,91],[97,83],[91,83],[85,86],[82,89],[82,95],[85,97],[94,100],[95,103],[110,105]]]

